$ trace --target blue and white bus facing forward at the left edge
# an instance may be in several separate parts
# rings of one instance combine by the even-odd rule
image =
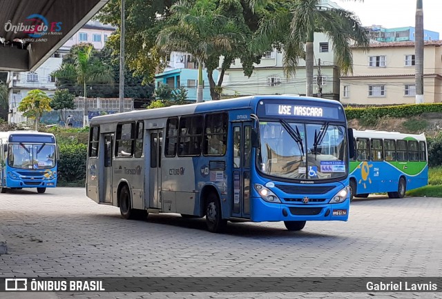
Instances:
[[[57,143],[54,134],[36,131],[0,132],[0,192],[57,186]]]

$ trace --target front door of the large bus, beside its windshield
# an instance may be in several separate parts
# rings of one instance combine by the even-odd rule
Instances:
[[[232,216],[250,218],[251,122],[233,124]]]

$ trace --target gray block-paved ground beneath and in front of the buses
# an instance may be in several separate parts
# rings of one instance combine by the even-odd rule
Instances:
[[[442,199],[382,196],[352,203],[349,222],[229,223],[206,231],[204,219],[173,214],[124,220],[84,189],[0,195],[3,277],[35,276],[441,276]],[[439,286],[439,289],[442,285]],[[210,290],[207,290],[210,291]],[[32,299],[48,298],[35,293]],[[46,294],[47,295],[47,294]],[[294,293],[56,293],[53,298],[294,298]],[[296,293],[303,298],[372,298],[368,293]],[[437,293],[375,293],[434,298]],[[0,298],[6,298],[0,293]],[[10,298],[17,298],[10,297]],[[29,297],[30,298],[30,297]],[[52,297],[51,297],[52,298]]]

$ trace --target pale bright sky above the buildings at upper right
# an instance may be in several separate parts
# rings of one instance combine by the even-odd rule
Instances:
[[[332,1],[354,12],[364,26],[414,27],[416,0]],[[442,0],[423,0],[423,26],[425,30],[439,32],[439,39],[442,39]]]

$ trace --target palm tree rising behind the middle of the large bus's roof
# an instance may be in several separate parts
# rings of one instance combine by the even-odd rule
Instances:
[[[202,66],[216,50],[231,50],[238,37],[235,26],[216,12],[213,0],[183,0],[171,6],[176,23],[157,36],[162,52],[189,52],[198,61],[197,103],[202,102]]]

